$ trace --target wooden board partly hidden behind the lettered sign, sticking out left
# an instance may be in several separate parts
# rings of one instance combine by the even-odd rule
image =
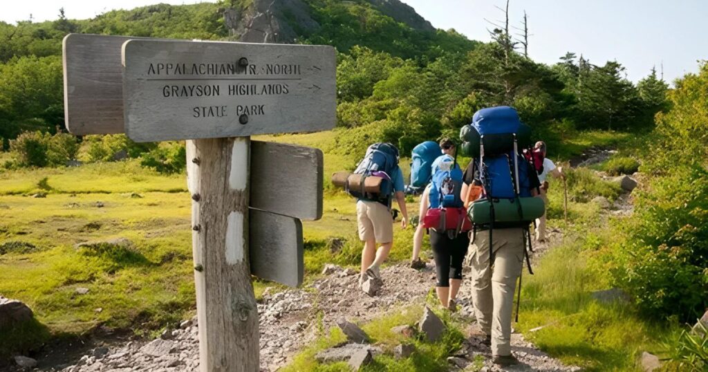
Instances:
[[[70,33],[64,55],[64,120],[74,135],[125,133],[120,49],[132,36]]]

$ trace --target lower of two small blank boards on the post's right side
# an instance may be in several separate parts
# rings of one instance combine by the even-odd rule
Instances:
[[[302,222],[297,218],[251,209],[251,274],[297,287],[304,276]]]

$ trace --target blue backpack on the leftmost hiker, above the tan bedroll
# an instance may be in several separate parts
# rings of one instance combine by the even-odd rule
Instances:
[[[392,178],[396,176],[396,172],[398,171],[398,162],[399,151],[394,145],[379,142],[369,146],[364,155],[364,159],[359,162],[354,174],[381,177],[383,181],[381,182],[380,192],[376,194],[361,193],[359,190],[350,188],[347,188],[347,192],[355,198],[379,201],[388,205],[394,193]]]

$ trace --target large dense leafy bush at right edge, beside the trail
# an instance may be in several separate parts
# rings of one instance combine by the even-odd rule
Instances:
[[[708,171],[675,169],[635,196],[613,276],[646,315],[689,321],[708,307]]]

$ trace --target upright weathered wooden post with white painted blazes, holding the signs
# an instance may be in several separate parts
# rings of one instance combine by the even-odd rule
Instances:
[[[248,249],[249,141],[187,141],[201,371],[259,370]]]

